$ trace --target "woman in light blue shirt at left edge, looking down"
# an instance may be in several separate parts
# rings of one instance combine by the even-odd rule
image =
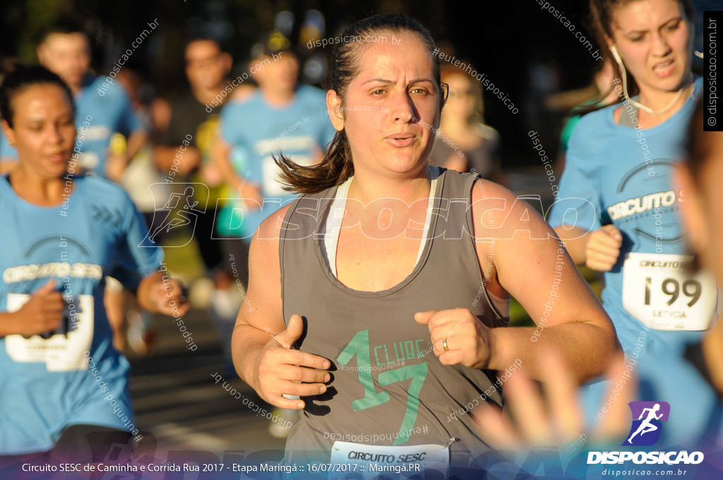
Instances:
[[[0,176],[0,455],[55,447],[82,456],[70,445],[89,431],[108,432],[109,443],[138,434],[103,279],[137,290],[150,312],[180,319],[188,304],[159,270],[161,249],[144,244],[128,195],[74,175],[69,87],[43,67],[19,67],[0,89],[0,111],[20,160]]]

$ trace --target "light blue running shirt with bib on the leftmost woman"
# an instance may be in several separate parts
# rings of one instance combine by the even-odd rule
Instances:
[[[55,207],[26,202],[0,176],[0,224],[0,311],[51,278],[66,299],[59,329],[0,338],[0,455],[49,450],[75,424],[132,431],[129,364],[112,345],[103,278],[134,289],[160,267],[161,249],[138,247],[142,216],[121,187],[94,176],[76,177]]]

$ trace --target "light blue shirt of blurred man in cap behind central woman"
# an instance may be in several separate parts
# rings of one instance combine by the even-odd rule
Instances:
[[[261,185],[262,209],[248,210],[242,202],[225,205],[216,230],[223,236],[250,238],[261,222],[296,195],[286,192],[278,181],[278,166],[272,155],[278,151],[309,166],[326,150],[334,137],[326,110],[325,93],[301,85],[292,103],[270,106],[260,90],[251,98],[231,102],[221,111],[221,134],[232,147],[231,160],[239,177]],[[235,194],[236,192],[234,192]],[[244,197],[241,192],[241,197]]]

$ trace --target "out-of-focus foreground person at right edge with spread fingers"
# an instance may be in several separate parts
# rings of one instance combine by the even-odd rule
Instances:
[[[681,221],[685,231],[691,233],[688,244],[696,252],[696,264],[709,268],[720,282],[723,281],[723,256],[720,254],[723,192],[719,187],[723,178],[723,132],[703,131],[704,106],[703,101],[698,101],[688,126],[683,161],[677,163],[673,175],[675,184],[685,191]],[[581,421],[583,414],[573,388],[575,383],[565,365],[560,359],[548,359],[548,365],[547,378],[542,379],[544,395],[536,393],[529,380],[525,380],[524,373],[515,374],[515,378],[505,385],[508,413],[548,412],[536,418],[539,425],[544,426],[541,429],[530,429],[523,423],[522,416],[500,421],[500,412],[484,405],[475,410],[483,437],[492,445],[502,450],[512,445],[523,449],[543,446],[549,449],[562,445],[560,462],[573,460],[565,468],[565,478],[596,478],[599,470],[608,467],[625,470],[630,468],[630,463],[617,467],[589,465],[585,463],[587,450],[625,450],[621,442],[634,432],[634,429],[630,430],[631,421],[636,419],[630,416],[628,403],[631,400],[663,401],[669,404],[669,416],[660,422],[659,440],[654,446],[633,447],[632,450],[700,451],[705,460],[700,465],[684,466],[687,476],[720,477],[719,452],[723,441],[723,317],[720,313],[716,325],[701,340],[685,346],[683,356],[662,356],[654,363],[643,363],[638,367],[636,377],[631,377],[628,362],[620,360],[609,372],[609,377],[614,380],[608,386],[610,396],[606,397],[607,403],[594,421]],[[526,462],[521,468],[530,465]],[[555,468],[555,463],[548,462],[545,468],[550,466]],[[665,475],[662,472],[668,469],[665,464],[641,468],[651,471],[650,478]],[[510,472],[509,466],[505,472]]]

